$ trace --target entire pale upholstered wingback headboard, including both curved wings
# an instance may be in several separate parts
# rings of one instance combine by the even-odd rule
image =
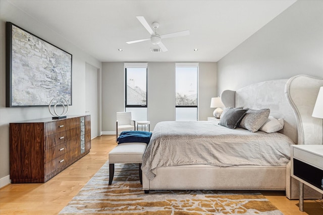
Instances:
[[[321,86],[323,78],[299,75],[225,90],[221,99],[226,107],[270,108],[271,116],[284,118],[280,132],[295,144],[323,144],[323,119],[311,116]]]

